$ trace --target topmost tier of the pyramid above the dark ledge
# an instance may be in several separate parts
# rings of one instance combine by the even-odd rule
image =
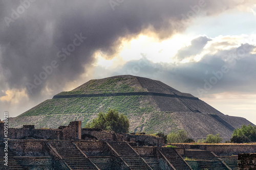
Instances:
[[[115,93],[115,92],[158,92],[166,94],[175,94],[180,91],[167,86],[166,84],[148,78],[123,75],[113,76],[104,79],[90,80],[87,83],[62,94],[97,94],[97,93]],[[191,94],[182,93],[184,95],[193,96]],[[194,97],[194,96],[193,96]]]

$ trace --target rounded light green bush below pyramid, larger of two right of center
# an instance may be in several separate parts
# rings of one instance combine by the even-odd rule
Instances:
[[[188,138],[188,133],[185,130],[179,130],[178,132],[172,132],[167,135],[168,143],[184,143]]]

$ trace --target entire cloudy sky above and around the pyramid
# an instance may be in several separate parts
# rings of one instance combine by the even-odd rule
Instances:
[[[135,75],[256,124],[253,0],[0,1],[0,118]]]

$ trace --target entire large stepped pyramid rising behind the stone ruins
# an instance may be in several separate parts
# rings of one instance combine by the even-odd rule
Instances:
[[[170,133],[184,129],[194,139],[219,133],[229,140],[235,128],[252,124],[242,117],[224,115],[196,96],[160,81],[123,75],[90,80],[71,91],[60,92],[11,118],[10,125],[57,128],[81,120],[84,126],[109,108],[130,119],[131,132]]]

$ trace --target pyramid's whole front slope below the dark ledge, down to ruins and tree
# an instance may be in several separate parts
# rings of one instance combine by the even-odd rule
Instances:
[[[57,128],[74,120],[82,120],[82,126],[96,117],[98,112],[115,108],[131,122],[131,131],[169,131],[177,126],[168,112],[159,112],[151,96],[111,96],[97,98],[52,99],[42,102],[19,115],[11,127],[34,124],[36,128]],[[17,121],[18,120],[18,121]]]

